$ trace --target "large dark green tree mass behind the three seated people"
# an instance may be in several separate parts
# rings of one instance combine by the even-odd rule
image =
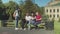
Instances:
[[[44,14],[44,7],[39,7],[32,0],[25,0],[25,2],[20,2],[20,9],[22,11],[22,16],[25,16],[27,12],[32,13],[38,11],[41,14]],[[23,18],[23,17],[22,17]]]

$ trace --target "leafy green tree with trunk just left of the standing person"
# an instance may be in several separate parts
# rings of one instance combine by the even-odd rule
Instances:
[[[6,5],[6,8],[6,14],[9,15],[9,20],[12,20],[12,14],[15,9],[18,8],[18,4],[13,1],[9,1],[9,3]]]

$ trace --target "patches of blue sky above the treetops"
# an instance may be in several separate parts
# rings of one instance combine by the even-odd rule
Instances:
[[[13,1],[18,3],[20,0],[13,0]],[[43,6],[46,6],[50,1],[51,0],[35,0],[35,3],[38,4],[38,6],[43,7]],[[2,0],[2,2],[7,3],[9,2],[9,0]]]

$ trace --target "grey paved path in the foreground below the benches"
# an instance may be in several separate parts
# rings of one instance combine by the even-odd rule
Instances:
[[[14,28],[0,28],[0,34],[54,34],[53,30],[14,30]]]

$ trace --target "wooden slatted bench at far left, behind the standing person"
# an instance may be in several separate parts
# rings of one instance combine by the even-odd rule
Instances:
[[[1,27],[15,27],[15,20],[13,21],[7,21],[7,20],[4,20],[4,21],[0,21],[0,24],[1,24]],[[18,26],[20,26],[20,20],[18,22]]]

